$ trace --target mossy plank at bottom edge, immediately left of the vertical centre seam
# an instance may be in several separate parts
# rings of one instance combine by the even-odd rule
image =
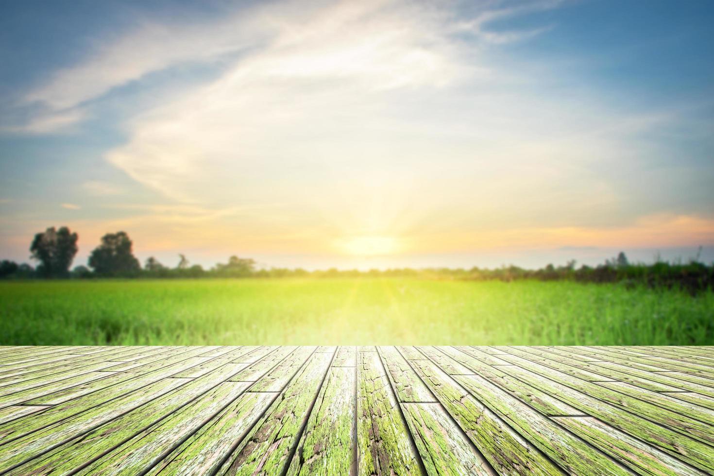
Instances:
[[[356,467],[356,368],[331,367],[288,475],[345,475]]]

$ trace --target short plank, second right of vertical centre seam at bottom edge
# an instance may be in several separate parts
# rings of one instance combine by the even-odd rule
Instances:
[[[429,475],[495,475],[438,403],[402,403]]]

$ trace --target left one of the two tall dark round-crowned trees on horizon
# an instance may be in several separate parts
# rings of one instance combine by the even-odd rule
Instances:
[[[77,254],[78,238],[77,234],[71,233],[66,226],[59,230],[55,230],[53,226],[47,228],[44,233],[37,233],[30,245],[31,258],[40,262],[37,272],[45,278],[69,275],[69,266]]]

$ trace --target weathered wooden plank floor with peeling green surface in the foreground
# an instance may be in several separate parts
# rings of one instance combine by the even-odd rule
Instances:
[[[714,474],[714,348],[0,347],[0,473]]]

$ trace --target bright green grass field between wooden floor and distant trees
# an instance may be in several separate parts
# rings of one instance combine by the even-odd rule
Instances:
[[[0,283],[1,345],[712,345],[714,293],[400,278]]]

